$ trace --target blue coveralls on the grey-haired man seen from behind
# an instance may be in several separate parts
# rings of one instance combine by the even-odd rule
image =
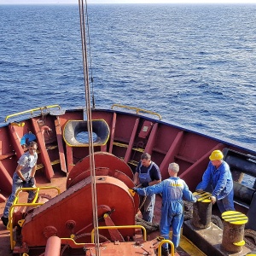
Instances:
[[[172,242],[178,247],[180,230],[183,225],[183,197],[187,201],[196,201],[188,185],[179,177],[169,177],[161,183],[145,189],[137,189],[139,195],[155,195],[162,193],[162,208],[160,220],[160,236],[169,239],[172,225]],[[167,247],[164,244],[163,247]]]

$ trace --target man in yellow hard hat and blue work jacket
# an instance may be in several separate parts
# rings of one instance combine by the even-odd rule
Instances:
[[[210,185],[212,187],[212,204],[217,202],[219,211],[235,211],[233,179],[230,166],[223,160],[224,155],[220,150],[212,151],[207,170],[202,176],[202,181],[196,187],[201,192]]]

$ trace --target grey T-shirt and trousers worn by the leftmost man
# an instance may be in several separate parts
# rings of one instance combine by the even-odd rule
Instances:
[[[33,156],[29,154],[27,151],[25,154],[20,156],[18,160],[18,164],[22,166],[21,173],[23,177],[28,178],[31,177],[32,167],[37,164],[38,154],[35,152]],[[12,187],[12,194],[9,195],[8,201],[3,210],[3,217],[9,217],[9,208],[13,205],[15,201],[15,193],[20,188],[32,188],[29,183],[24,183],[23,180],[19,177],[19,175],[15,172],[13,175],[13,187]],[[35,185],[33,187],[36,187]],[[34,191],[29,191],[27,201],[31,201],[35,195]]]

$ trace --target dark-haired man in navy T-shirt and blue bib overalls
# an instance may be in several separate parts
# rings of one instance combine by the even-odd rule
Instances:
[[[148,186],[152,186],[161,182],[159,166],[157,166],[151,160],[150,154],[142,154],[141,160],[138,163],[136,172],[134,174],[133,182],[135,186],[141,185],[143,188],[147,188]],[[155,195],[148,195],[146,199],[144,196],[140,196],[140,203],[143,203],[143,207],[141,208],[143,220],[147,222],[152,222],[154,215],[154,202]]]

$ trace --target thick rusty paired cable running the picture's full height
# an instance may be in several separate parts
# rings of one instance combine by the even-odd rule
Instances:
[[[85,1],[85,3],[84,3]],[[86,28],[84,22],[84,4],[87,6],[86,0],[79,0],[79,17],[80,17],[80,32],[82,39],[82,52],[83,52],[83,65],[84,65],[84,90],[85,90],[85,104],[87,114],[87,130],[89,135],[89,154],[90,154],[90,177],[91,177],[91,198],[93,207],[93,226],[94,236],[96,241],[96,256],[100,255],[100,242],[99,242],[99,230],[98,230],[98,218],[97,218],[97,201],[96,201],[96,172],[95,172],[95,160],[94,160],[94,148],[93,148],[93,134],[92,134],[92,119],[90,109],[90,83],[87,61],[87,45],[86,45]]]

